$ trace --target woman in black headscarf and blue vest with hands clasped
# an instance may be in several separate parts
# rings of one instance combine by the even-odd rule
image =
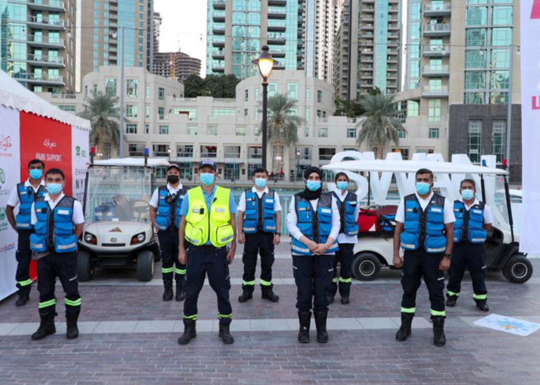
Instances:
[[[297,284],[300,322],[298,341],[310,342],[311,310],[317,326],[317,342],[328,342],[326,288],[334,276],[334,255],[341,221],[335,197],[323,193],[322,172],[310,167],[304,173],[306,188],[294,195],[287,215],[292,236],[292,268]]]

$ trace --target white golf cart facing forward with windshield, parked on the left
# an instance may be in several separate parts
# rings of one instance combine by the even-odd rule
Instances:
[[[92,161],[86,175],[85,230],[79,241],[77,276],[90,281],[96,267],[137,268],[150,281],[159,259],[159,241],[150,222],[153,170],[164,159]]]

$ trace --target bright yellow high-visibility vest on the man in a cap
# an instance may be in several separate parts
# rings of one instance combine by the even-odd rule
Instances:
[[[203,189],[198,187],[188,191],[190,207],[186,215],[186,241],[195,246],[201,246],[210,239],[215,247],[225,246],[232,241],[234,230],[229,224],[230,193],[228,188],[216,186],[214,201],[208,213]]]

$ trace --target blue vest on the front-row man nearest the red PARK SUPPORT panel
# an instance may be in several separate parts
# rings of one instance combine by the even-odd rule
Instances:
[[[37,223],[36,232],[30,235],[30,248],[37,253],[54,250],[57,253],[77,251],[77,235],[73,224],[75,199],[63,197],[54,210],[50,209],[45,198],[34,203]]]

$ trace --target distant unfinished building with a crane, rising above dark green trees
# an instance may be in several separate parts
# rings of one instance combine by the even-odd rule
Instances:
[[[157,52],[154,55],[153,73],[183,83],[189,75],[201,75],[201,60],[180,51]]]

